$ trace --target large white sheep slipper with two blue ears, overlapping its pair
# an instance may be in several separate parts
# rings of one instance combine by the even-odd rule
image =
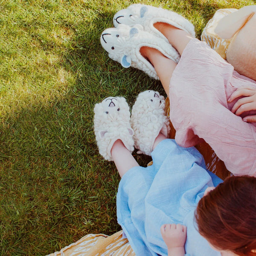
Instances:
[[[179,53],[171,44],[143,31],[141,25],[130,27],[121,24],[117,28],[105,29],[100,41],[111,59],[118,61],[123,67],[135,67],[143,70],[154,79],[159,79],[159,77],[152,64],[140,54],[141,47],[155,48],[176,63],[180,59]]]

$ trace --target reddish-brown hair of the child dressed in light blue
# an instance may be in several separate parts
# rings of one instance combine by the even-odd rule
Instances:
[[[256,177],[224,180],[199,201],[195,220],[217,249],[256,256]]]

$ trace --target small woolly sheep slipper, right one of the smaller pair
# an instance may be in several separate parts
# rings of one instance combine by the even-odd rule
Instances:
[[[154,140],[160,131],[168,137],[170,126],[165,106],[165,99],[158,92],[146,90],[138,95],[131,110],[130,121],[138,154],[151,155]]]

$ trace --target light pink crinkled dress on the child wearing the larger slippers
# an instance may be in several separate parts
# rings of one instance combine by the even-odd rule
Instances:
[[[227,103],[244,86],[256,87],[256,81],[239,75],[205,42],[192,39],[170,81],[170,119],[179,145],[194,146],[203,138],[234,175],[256,176],[256,123],[230,111],[236,100]]]

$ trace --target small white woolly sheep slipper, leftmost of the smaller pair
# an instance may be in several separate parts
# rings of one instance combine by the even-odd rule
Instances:
[[[130,125],[130,111],[125,98],[108,97],[94,107],[94,132],[99,153],[113,161],[111,148],[118,139],[125,147],[134,151],[134,131]]]

